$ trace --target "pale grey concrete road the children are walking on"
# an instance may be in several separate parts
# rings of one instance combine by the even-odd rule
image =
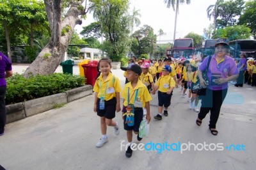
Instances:
[[[26,66],[14,65],[14,71]],[[58,68],[59,69],[59,68]],[[19,70],[19,71],[18,71]],[[59,71],[61,72],[61,68]],[[79,73],[74,67],[74,73]],[[113,70],[124,84],[122,70]],[[217,123],[219,134],[213,136],[208,128],[209,115],[201,127],[195,123],[196,112],[188,109],[186,98],[181,98],[175,89],[170,116],[161,121],[152,118],[150,134],[141,143],[216,144],[231,146],[221,151],[191,150],[134,151],[131,158],[120,150],[122,140],[127,142],[122,126],[121,113],[115,120],[120,124],[120,134],[108,128],[108,139],[102,148],[96,148],[99,141],[99,117],[93,110],[93,95],[71,102],[60,109],[53,109],[6,125],[6,134],[0,137],[0,164],[6,169],[255,169],[256,167],[256,88],[230,86],[225,104],[221,108]],[[152,117],[157,112],[157,96],[150,102]],[[134,139],[138,144],[138,141]],[[150,146],[147,145],[149,149]],[[160,148],[157,145],[157,148]],[[244,150],[243,150],[244,149]],[[240,150],[240,151],[239,151]]]

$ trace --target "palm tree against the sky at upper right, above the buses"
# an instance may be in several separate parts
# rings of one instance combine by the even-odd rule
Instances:
[[[223,6],[223,3],[224,3],[224,0],[217,0],[215,4],[211,4],[206,10],[207,17],[209,18],[209,20],[211,20],[211,17],[213,17],[214,30],[217,27],[216,20],[220,15],[221,7]]]

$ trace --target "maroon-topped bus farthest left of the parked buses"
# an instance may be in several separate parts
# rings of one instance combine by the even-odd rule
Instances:
[[[174,40],[173,58],[190,58],[194,54],[194,43],[192,38],[179,38]]]

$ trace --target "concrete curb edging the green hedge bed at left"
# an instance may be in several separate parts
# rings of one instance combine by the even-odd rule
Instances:
[[[79,98],[92,94],[92,86],[86,85],[76,89],[70,89],[65,93],[36,98],[26,102],[6,105],[6,123],[22,120],[35,114],[54,109],[56,104],[67,104]]]

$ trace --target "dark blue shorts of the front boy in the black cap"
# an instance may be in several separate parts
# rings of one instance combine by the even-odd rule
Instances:
[[[129,127],[127,123],[125,123],[126,115],[124,116],[124,130],[133,130],[134,132],[139,132],[140,123],[143,120],[143,109],[142,107],[134,108],[134,125]]]

